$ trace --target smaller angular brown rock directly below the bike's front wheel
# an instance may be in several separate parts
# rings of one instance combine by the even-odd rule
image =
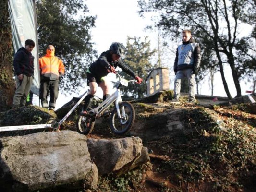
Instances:
[[[139,137],[114,140],[87,139],[87,145],[91,160],[101,175],[110,172],[120,175],[149,161],[147,150],[142,147],[142,140]]]

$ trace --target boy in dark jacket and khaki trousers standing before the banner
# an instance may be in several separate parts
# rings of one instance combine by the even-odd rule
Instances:
[[[31,39],[25,41],[25,47],[20,48],[14,56],[13,67],[15,72],[16,90],[13,97],[12,108],[23,107],[34,79],[34,56],[31,51],[35,42]]]

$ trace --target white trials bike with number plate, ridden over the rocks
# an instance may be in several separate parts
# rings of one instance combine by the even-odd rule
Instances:
[[[103,101],[98,107],[90,109],[87,114],[80,114],[76,122],[77,132],[87,135],[92,132],[95,120],[101,117],[104,112],[110,108],[112,103],[115,103],[114,109],[110,112],[110,129],[117,135],[122,135],[130,130],[134,125],[135,111],[134,107],[129,102],[123,102],[121,98],[121,86],[128,86],[130,82],[136,80],[126,80],[116,72],[119,82],[116,91]]]

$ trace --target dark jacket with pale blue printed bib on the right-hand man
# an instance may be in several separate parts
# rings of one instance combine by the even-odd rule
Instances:
[[[193,38],[187,42],[182,42],[176,51],[174,61],[174,72],[184,69],[197,69],[201,62],[201,50],[198,43],[195,43]]]

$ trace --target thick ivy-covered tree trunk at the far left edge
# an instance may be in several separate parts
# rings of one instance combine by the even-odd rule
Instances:
[[[0,1],[0,112],[12,106],[15,91],[12,73],[12,37],[7,0]]]

